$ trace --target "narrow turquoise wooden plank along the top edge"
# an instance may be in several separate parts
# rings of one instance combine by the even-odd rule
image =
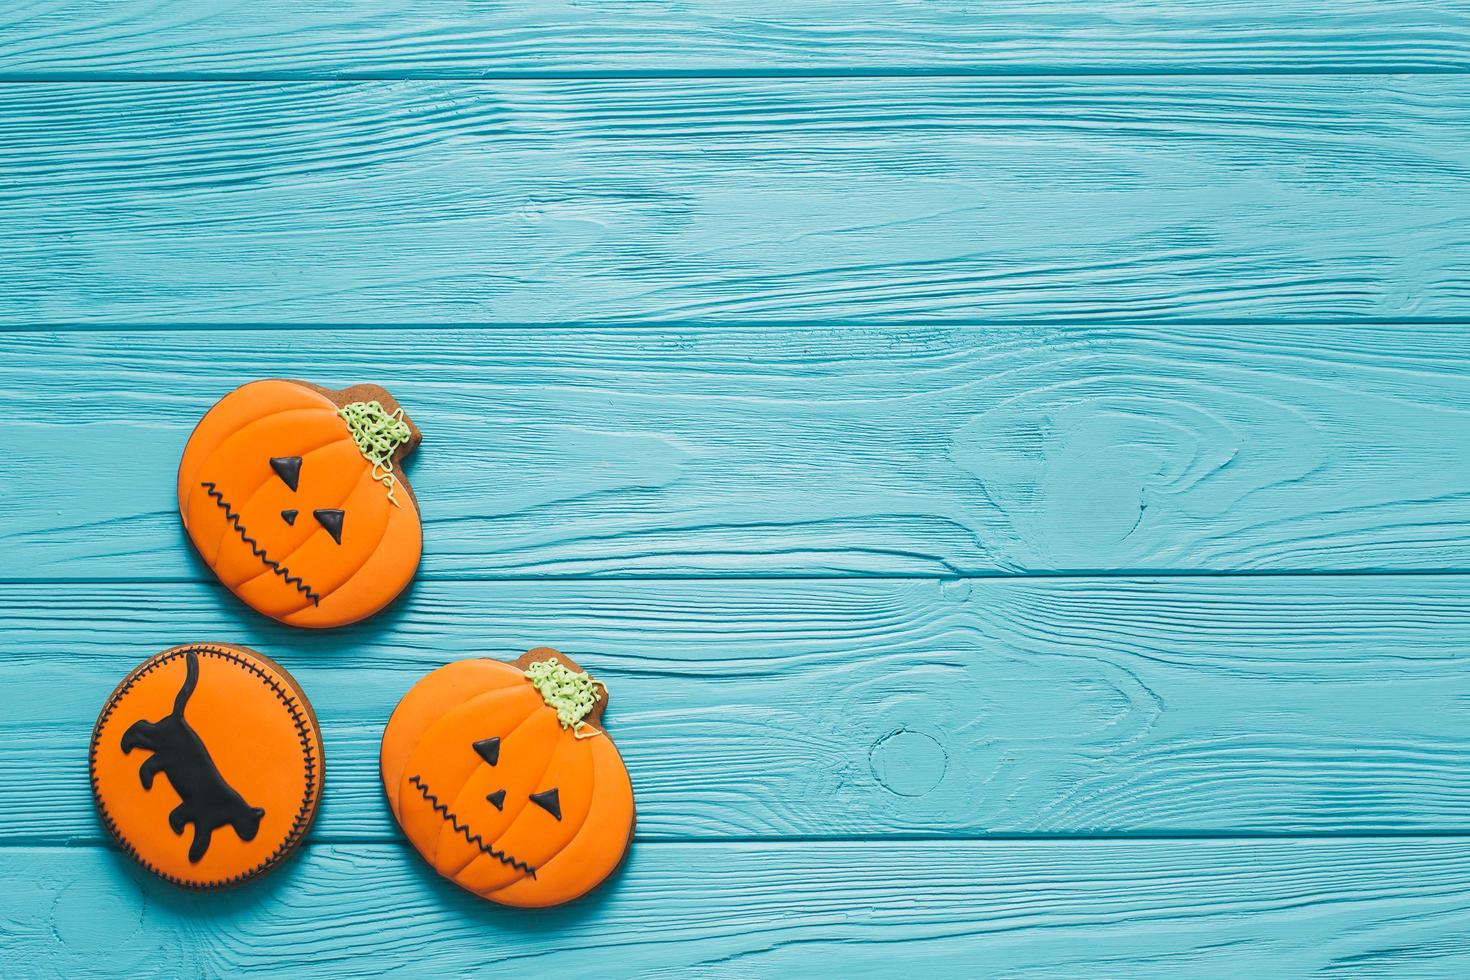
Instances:
[[[1402,71],[1470,66],[1454,0],[79,0],[0,13],[0,73]]]

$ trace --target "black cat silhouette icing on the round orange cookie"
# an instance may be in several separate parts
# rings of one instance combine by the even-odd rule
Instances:
[[[184,824],[194,824],[188,860],[198,862],[209,851],[215,832],[225,824],[234,827],[241,840],[254,840],[266,811],[247,804],[225,782],[204,741],[185,720],[184,707],[198,686],[198,655],[190,651],[185,663],[184,686],[173,698],[173,711],[157,721],[134,721],[122,735],[122,751],[126,754],[141,748],[153,752],[138,767],[138,779],[144,789],[153,789],[154,776],[163,773],[169,777],[181,799],[169,813],[169,827],[182,835]]]

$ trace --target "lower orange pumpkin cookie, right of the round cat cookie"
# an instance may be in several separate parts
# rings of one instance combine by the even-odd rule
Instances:
[[[440,667],[384,732],[388,807],[460,887],[503,905],[569,902],[612,874],[634,830],[604,707],[607,689],[548,648]]]

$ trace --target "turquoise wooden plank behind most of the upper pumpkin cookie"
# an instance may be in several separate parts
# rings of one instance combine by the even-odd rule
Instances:
[[[12,332],[0,363],[10,579],[210,579],[173,473],[262,376],[407,407],[423,577],[1470,567],[1463,325]]]

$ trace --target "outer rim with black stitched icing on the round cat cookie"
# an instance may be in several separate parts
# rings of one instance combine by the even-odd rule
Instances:
[[[281,701],[281,704],[285,705],[287,711],[291,713],[291,724],[295,727],[297,741],[300,741],[301,743],[301,760],[303,764],[306,765],[306,789],[301,796],[301,807],[300,810],[297,810],[295,821],[291,824],[291,832],[285,836],[285,840],[282,840],[281,846],[278,846],[268,858],[265,858],[256,867],[219,882],[187,882],[184,879],[169,874],[168,871],[163,871],[162,868],[154,867],[151,862],[144,860],[143,855],[138,854],[138,849],[134,848],[131,842],[125,840],[122,833],[119,833],[118,824],[113,823],[112,814],[107,813],[107,807],[106,804],[103,804],[101,799],[100,788],[97,786],[97,736],[101,733],[103,726],[112,717],[112,713],[118,708],[118,704],[129,691],[132,691],[132,686],[138,680],[147,677],[150,673],[153,673],[163,664],[178,660],[179,657],[188,655],[190,651],[194,651],[200,657],[218,657],[220,660],[228,660],[229,663],[238,667],[244,667],[247,671],[263,680],[266,683],[266,688],[269,688],[270,692]],[[169,882],[172,884],[179,884],[182,887],[196,887],[196,889],[226,887],[229,884],[238,884],[240,882],[245,882],[248,879],[256,877],[257,874],[262,874],[263,871],[273,867],[278,861],[281,861],[281,858],[284,858],[287,852],[290,852],[291,848],[294,848],[301,840],[301,837],[306,836],[306,829],[312,823],[312,814],[316,810],[316,796],[318,796],[316,739],[313,738],[312,724],[309,723],[306,711],[303,710],[300,701],[297,699],[295,692],[287,688],[287,685],[284,685],[276,677],[268,674],[265,670],[262,670],[257,664],[251,663],[248,658],[237,654],[232,649],[225,649],[222,646],[209,646],[206,644],[176,646],[173,649],[163,651],[162,654],[156,654],[153,658],[147,660],[140,667],[137,667],[131,674],[128,674],[126,680],[123,680],[122,685],[112,693],[112,696],[107,698],[107,704],[103,707],[101,716],[98,716],[97,718],[97,727],[93,729],[91,748],[88,751],[88,767],[91,768],[90,774],[93,785],[93,799],[97,802],[97,813],[101,817],[101,823],[107,829],[107,833],[112,835],[112,839],[118,842],[118,846],[121,846],[128,854],[128,857],[131,857],[134,861],[146,867],[148,871],[157,874],[165,882]]]

